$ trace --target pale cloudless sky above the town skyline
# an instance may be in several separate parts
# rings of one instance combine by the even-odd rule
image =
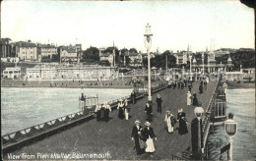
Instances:
[[[1,37],[13,41],[205,51],[206,47],[254,48],[254,13],[239,1],[3,1]]]

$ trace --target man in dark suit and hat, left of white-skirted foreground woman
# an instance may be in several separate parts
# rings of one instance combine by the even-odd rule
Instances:
[[[144,140],[144,134],[142,126],[140,126],[140,121],[135,121],[135,126],[132,130],[132,140],[134,140],[134,148],[137,152],[137,155],[141,155],[145,152],[146,142]]]

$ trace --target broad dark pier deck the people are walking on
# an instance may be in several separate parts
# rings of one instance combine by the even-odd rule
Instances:
[[[203,94],[199,94],[198,86],[199,82],[193,82],[192,92],[196,91],[198,100],[202,103],[204,109],[207,108],[214,89],[217,85],[217,81],[210,81],[207,89]],[[155,141],[156,152],[153,157],[148,154],[136,155],[136,151],[133,149],[134,141],[131,140],[131,132],[134,126],[135,120],[139,119],[144,126],[146,115],[144,108],[146,105],[147,97],[138,100],[135,105],[130,104],[130,120],[119,120],[117,118],[117,110],[113,110],[110,113],[110,120],[108,122],[96,122],[96,119],[80,124],[69,130],[63,131],[59,134],[54,134],[46,137],[42,140],[34,142],[30,145],[22,147],[16,151],[13,151],[13,155],[22,155],[27,153],[29,155],[52,154],[52,153],[105,153],[109,152],[111,158],[106,159],[171,159],[172,155],[181,157],[183,159],[189,159],[188,153],[191,152],[191,121],[195,118],[194,107],[186,106],[186,93],[188,88],[166,88],[153,94],[153,122],[155,134],[158,140]],[[156,97],[160,93],[162,97],[162,113],[157,113]],[[63,107],[65,108],[65,107]],[[172,134],[167,134],[164,130],[164,115],[167,109],[170,109],[171,113],[176,117],[179,108],[183,108],[186,113],[186,119],[188,121],[188,134],[179,135],[177,130]],[[178,124],[175,125],[175,128]],[[7,155],[4,156],[8,158]]]

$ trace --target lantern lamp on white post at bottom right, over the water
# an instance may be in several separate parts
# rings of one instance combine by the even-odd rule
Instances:
[[[232,136],[236,134],[237,123],[233,120],[233,114],[228,114],[228,119],[224,122],[224,132],[229,135],[230,149],[229,149],[229,160],[232,160]]]

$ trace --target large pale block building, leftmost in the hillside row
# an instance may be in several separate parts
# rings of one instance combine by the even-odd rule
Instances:
[[[36,44],[32,43],[31,40],[28,42],[20,41],[16,42],[16,55],[21,61],[24,62],[34,62],[38,61]]]

